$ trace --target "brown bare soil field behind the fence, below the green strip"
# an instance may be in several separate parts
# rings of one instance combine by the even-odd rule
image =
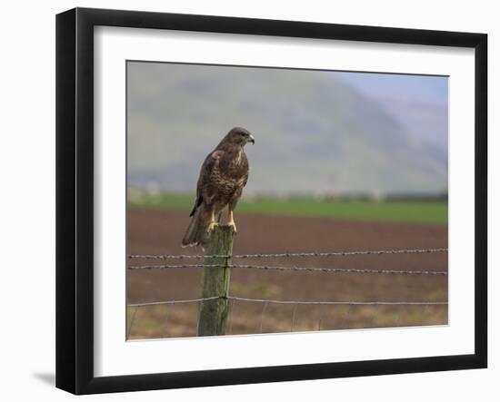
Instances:
[[[182,249],[188,223],[186,211],[128,211],[128,252],[131,254],[199,254]],[[447,247],[445,225],[340,221],[260,215],[236,215],[234,252],[276,253],[332,250],[395,250]],[[131,265],[161,263],[128,260]],[[169,260],[169,263],[175,263]],[[185,261],[186,262],[186,261]],[[201,263],[189,260],[188,263]],[[372,255],[328,258],[239,260],[234,263],[300,267],[387,270],[447,270],[447,253]],[[128,270],[128,303],[200,297],[201,270]],[[282,300],[445,301],[447,277],[397,274],[354,274],[233,270],[230,293],[235,296]],[[231,333],[260,331],[263,303],[237,301],[232,306]],[[264,332],[289,331],[294,305],[268,305]],[[128,309],[130,338],[195,336],[197,305]],[[132,316],[134,316],[132,321]],[[321,324],[320,324],[321,318]],[[445,324],[445,306],[299,306],[294,330],[373,328]]]

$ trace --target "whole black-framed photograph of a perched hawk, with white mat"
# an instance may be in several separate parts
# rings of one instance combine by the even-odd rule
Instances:
[[[485,368],[485,34],[56,17],[56,386]]]

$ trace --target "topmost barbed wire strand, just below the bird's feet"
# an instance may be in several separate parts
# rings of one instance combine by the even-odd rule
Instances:
[[[446,252],[448,249],[403,249],[403,250],[356,250],[356,251],[312,251],[312,252],[283,252],[273,254],[131,254],[129,259],[141,260],[187,260],[187,259],[265,259],[287,257],[345,257],[354,255],[384,255],[384,254],[423,254],[431,252]]]

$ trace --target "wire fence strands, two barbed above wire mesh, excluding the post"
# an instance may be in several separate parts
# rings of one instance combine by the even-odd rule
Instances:
[[[354,251],[314,251],[314,252],[284,252],[273,254],[235,254],[235,255],[190,255],[190,254],[132,254],[129,259],[140,260],[188,260],[188,259],[204,259],[209,261],[211,259],[280,259],[280,258],[303,258],[303,257],[348,257],[348,256],[363,256],[363,255],[397,255],[397,254],[426,254],[426,253],[444,253],[447,252],[445,248],[437,249],[403,249],[403,250],[354,250]],[[178,269],[217,269],[217,268],[231,268],[237,270],[277,270],[277,271],[308,271],[308,272],[330,272],[330,273],[366,273],[366,274],[399,274],[399,275],[429,275],[429,276],[447,276],[447,271],[443,270],[381,270],[381,269],[342,269],[342,268],[317,268],[317,267],[297,267],[297,266],[274,266],[274,265],[252,265],[252,264],[148,264],[148,265],[130,265],[128,270],[178,270]],[[389,306],[398,307],[397,324],[399,325],[402,308],[405,306],[423,307],[426,311],[432,306],[447,307],[447,301],[358,301],[358,300],[345,300],[345,301],[326,301],[326,300],[279,300],[279,299],[253,299],[233,295],[214,296],[210,298],[199,299],[176,299],[165,301],[152,301],[128,304],[127,307],[134,309],[131,318],[128,322],[127,338],[130,336],[130,331],[135,322],[135,317],[138,309],[149,306],[174,306],[179,304],[198,303],[215,301],[217,299],[227,299],[231,302],[229,309],[229,322],[228,332],[232,333],[233,330],[233,312],[236,302],[250,302],[262,303],[263,308],[260,314],[259,332],[263,332],[263,322],[268,306],[275,305],[289,305],[293,306],[290,330],[295,328],[295,320],[297,308],[299,306],[317,306],[319,307],[319,318],[317,321],[317,328],[321,329],[324,321],[324,308],[325,306],[347,306],[345,311],[344,323],[348,319],[351,308],[355,306]],[[424,314],[425,316],[425,314]],[[168,317],[168,313],[165,315]],[[425,319],[425,318],[424,318]],[[425,322],[423,320],[422,325]]]

